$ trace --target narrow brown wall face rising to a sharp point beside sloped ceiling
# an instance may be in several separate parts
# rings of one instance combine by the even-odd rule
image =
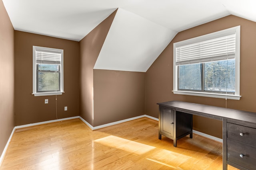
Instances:
[[[94,126],[93,67],[115,15],[116,11],[80,41],[80,116],[92,126]]]

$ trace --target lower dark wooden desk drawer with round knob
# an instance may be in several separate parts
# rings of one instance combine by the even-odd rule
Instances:
[[[228,139],[228,161],[249,170],[256,169],[256,147]]]

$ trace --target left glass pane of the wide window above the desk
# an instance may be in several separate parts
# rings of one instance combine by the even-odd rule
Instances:
[[[201,63],[180,65],[179,89],[202,90]]]

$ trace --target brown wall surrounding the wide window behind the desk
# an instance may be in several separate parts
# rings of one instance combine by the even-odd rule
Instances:
[[[240,100],[227,100],[227,108],[256,112],[256,22],[236,16],[193,27],[178,33],[158,59],[146,72],[146,114],[158,117],[158,102],[180,100],[198,104],[226,107],[225,99],[199,96],[174,95],[173,90],[173,43],[241,25],[240,41]],[[222,138],[222,122],[194,116],[194,130]]]

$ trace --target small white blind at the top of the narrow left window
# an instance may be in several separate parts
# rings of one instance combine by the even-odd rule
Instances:
[[[61,64],[61,53],[58,51],[49,52],[46,50],[36,50],[37,64]]]

